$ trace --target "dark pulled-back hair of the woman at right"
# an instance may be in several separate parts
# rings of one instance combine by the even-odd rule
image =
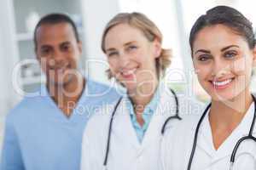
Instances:
[[[189,45],[192,55],[193,43],[195,42],[197,33],[206,26],[214,26],[218,24],[229,27],[232,31],[235,31],[237,34],[245,38],[250,49],[254,48],[255,38],[253,34],[252,22],[250,22],[250,20],[248,20],[235,8],[228,6],[217,6],[209,9],[207,14],[202,14],[195,21],[194,26],[192,26],[189,35]]]

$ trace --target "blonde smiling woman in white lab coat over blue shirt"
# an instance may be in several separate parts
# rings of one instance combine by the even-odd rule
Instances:
[[[179,122],[177,109],[184,113],[191,104],[185,105],[160,83],[170,64],[161,41],[160,30],[143,14],[118,14],[109,21],[102,50],[108,57],[109,77],[127,92],[117,104],[90,118],[84,131],[82,170],[159,168],[162,127],[170,116],[168,127],[174,126]]]

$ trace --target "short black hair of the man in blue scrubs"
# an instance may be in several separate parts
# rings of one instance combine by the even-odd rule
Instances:
[[[50,25],[55,25],[55,24],[59,24],[59,23],[68,23],[73,27],[73,32],[74,35],[76,37],[76,40],[79,42],[79,31],[77,29],[77,26],[75,25],[75,23],[73,22],[73,20],[67,15],[67,14],[61,14],[61,13],[53,13],[53,14],[47,14],[44,17],[42,17],[39,21],[38,24],[34,30],[34,37],[33,37],[33,41],[35,44],[35,48],[37,48],[38,46],[38,42],[37,42],[37,31],[38,28],[44,24],[50,24]]]

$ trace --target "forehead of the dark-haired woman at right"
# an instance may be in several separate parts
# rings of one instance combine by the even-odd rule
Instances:
[[[247,45],[247,41],[244,37],[230,29],[228,26],[215,25],[206,26],[197,33],[193,48],[194,51],[199,48],[213,50],[223,48],[231,44],[243,47]]]

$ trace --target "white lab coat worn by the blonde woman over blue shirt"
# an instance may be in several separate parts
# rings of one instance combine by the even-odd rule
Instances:
[[[195,102],[178,99],[180,112],[191,108]],[[195,103],[194,106],[198,104]],[[109,106],[109,105],[108,105]],[[197,108],[195,108],[197,109]],[[122,99],[113,118],[110,150],[108,155],[109,170],[157,170],[160,168],[161,128],[167,117],[175,114],[175,99],[171,92],[160,93],[160,104],[151,118],[143,142],[139,143],[137,134],[131,124],[130,113]],[[187,109],[188,111],[188,109]],[[82,144],[81,170],[102,170],[106,154],[108,128],[113,105],[104,111],[98,111],[90,118],[84,131]],[[188,112],[187,112],[188,113]],[[172,120],[167,128],[177,122]]]

